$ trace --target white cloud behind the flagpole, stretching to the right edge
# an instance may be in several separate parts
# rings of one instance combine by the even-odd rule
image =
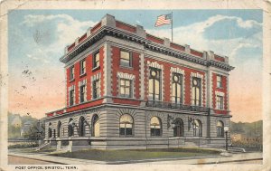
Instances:
[[[173,42],[181,44],[190,44],[193,49],[200,51],[214,51],[222,55],[227,55],[230,58],[235,58],[237,52],[241,48],[261,47],[261,33],[253,33],[249,37],[237,37],[220,40],[208,40],[204,37],[207,28],[211,27],[220,21],[229,22],[236,21],[237,27],[249,28],[260,25],[256,21],[247,20],[242,18],[228,15],[215,15],[211,16],[205,21],[190,24],[182,27],[173,28]],[[147,30],[148,33],[159,35],[159,37],[171,37],[170,30]]]

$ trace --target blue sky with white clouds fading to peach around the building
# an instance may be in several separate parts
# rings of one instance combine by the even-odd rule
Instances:
[[[63,55],[66,45],[98,23],[105,14],[115,15],[117,20],[128,24],[140,24],[147,32],[154,35],[171,38],[170,25],[154,27],[158,15],[171,12],[167,10],[12,11],[8,14],[9,74],[10,82],[17,83],[10,88],[11,110],[25,113],[27,108],[41,117],[47,111],[64,106],[64,72],[59,58]],[[197,50],[211,50],[229,56],[230,64],[236,67],[230,73],[232,80],[230,87],[234,88],[231,92],[232,101],[244,101],[249,98],[248,92],[251,92],[251,87],[261,85],[262,20],[261,10],[173,10],[173,40],[175,43],[190,44]],[[25,70],[32,71],[33,75],[31,77],[23,75],[22,71]],[[247,74],[249,78],[246,77]],[[243,84],[237,87],[240,81],[245,81],[250,87]],[[27,86],[28,89],[23,89],[22,86]],[[14,94],[15,90],[22,92],[21,95]],[[261,93],[259,90],[253,92]],[[236,98],[236,94],[239,99]],[[62,100],[56,100],[59,99],[56,96],[61,97]],[[33,97],[33,104],[42,104],[42,107],[23,105],[23,101],[31,97]],[[49,104],[47,99],[53,100],[53,104]],[[232,103],[233,112],[237,116],[242,116],[245,110],[238,109],[236,103]],[[241,106],[245,107],[246,102]],[[258,110],[258,108],[250,109],[254,115]],[[242,117],[235,119],[245,120]]]

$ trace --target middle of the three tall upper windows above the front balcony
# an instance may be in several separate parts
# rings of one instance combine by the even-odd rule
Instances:
[[[180,73],[173,73],[172,101],[173,103],[182,103],[182,74]]]

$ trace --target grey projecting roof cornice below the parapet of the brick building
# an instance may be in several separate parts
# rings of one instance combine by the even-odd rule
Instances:
[[[67,52],[65,55],[63,55],[60,61],[64,63],[69,62],[70,59],[77,56],[80,52],[83,52],[86,49],[88,49],[90,44],[98,42],[98,40],[102,39],[106,35],[116,37],[118,39],[124,39],[126,41],[130,41],[134,43],[143,44],[145,49],[147,50],[163,53],[169,56],[173,56],[175,58],[182,59],[187,62],[194,62],[194,63],[198,63],[207,67],[214,66],[216,68],[220,68],[225,71],[231,71],[234,69],[234,67],[230,66],[227,63],[217,62],[213,60],[206,60],[206,59],[202,59],[201,57],[193,56],[192,54],[187,53],[187,52],[176,51],[171,47],[167,47],[164,44],[154,43],[150,40],[147,40],[144,37],[136,35],[135,33],[127,33],[126,31],[112,28],[107,25],[103,25],[101,28],[98,29],[96,33],[89,35],[89,37],[86,40],[79,43],[76,47],[74,47],[72,51]]]

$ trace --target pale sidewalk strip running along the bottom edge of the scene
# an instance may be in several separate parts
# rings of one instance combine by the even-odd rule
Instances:
[[[61,165],[120,165],[120,164],[132,164],[146,162],[151,162],[152,164],[171,164],[171,165],[201,165],[201,164],[221,164],[235,161],[246,161],[246,160],[259,160],[263,158],[262,153],[242,153],[242,154],[229,154],[229,156],[213,156],[213,157],[183,157],[183,158],[160,158],[160,159],[147,159],[147,160],[133,160],[133,161],[97,161],[97,160],[87,160],[78,158],[68,158],[68,157],[51,157],[45,154],[26,154],[26,153],[16,153],[9,152],[8,155],[15,157],[27,157],[38,159],[42,161],[48,161]]]

